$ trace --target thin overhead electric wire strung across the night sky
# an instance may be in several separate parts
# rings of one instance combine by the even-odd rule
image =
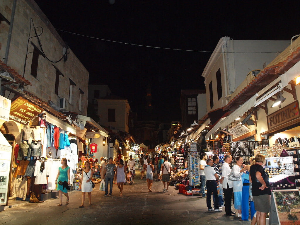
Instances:
[[[69,32],[69,31],[64,31],[64,30],[60,30],[60,29],[55,29],[55,30],[66,32],[66,33],[70,33],[70,34],[73,34],[73,35],[79,35],[79,36],[86,37],[86,38],[93,38],[93,39],[102,40],[102,41],[110,41],[110,42],[115,42],[115,43],[119,43],[119,44],[128,44],[128,45],[135,45],[135,46],[141,46],[141,47],[149,47],[149,48],[157,48],[157,49],[169,49],[169,50],[179,50],[179,51],[187,51],[187,52],[208,52],[208,53],[216,52],[216,51],[188,50],[188,49],[164,48],[164,47],[156,47],[156,46],[149,46],[149,45],[132,44],[132,43],[126,43],[126,42],[122,42],[122,41],[112,41],[112,40],[103,39],[103,38],[96,38],[96,37],[92,37],[92,36],[81,35],[81,34],[77,34],[77,33],[74,33],[74,32]],[[227,52],[227,53],[277,53],[277,52]],[[216,53],[222,53],[222,52],[216,52]]]

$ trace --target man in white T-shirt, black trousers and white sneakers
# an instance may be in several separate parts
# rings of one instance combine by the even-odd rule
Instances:
[[[208,211],[223,211],[219,208],[219,198],[218,198],[218,191],[217,191],[217,184],[219,184],[219,176],[217,175],[216,171],[212,167],[214,162],[212,159],[207,160],[207,164],[204,167],[204,174],[206,178],[206,188],[207,188],[207,196],[206,196],[206,206]],[[214,194],[214,208],[211,208],[211,192]]]

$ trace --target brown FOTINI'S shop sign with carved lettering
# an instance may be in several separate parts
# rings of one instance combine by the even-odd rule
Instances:
[[[283,107],[280,110],[277,110],[275,113],[272,113],[267,116],[268,129],[275,128],[279,125],[285,124],[289,121],[299,118],[299,103],[298,100],[293,103]]]

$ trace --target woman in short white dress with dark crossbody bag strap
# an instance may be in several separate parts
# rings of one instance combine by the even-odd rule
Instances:
[[[88,205],[91,205],[91,199],[92,199],[92,194],[91,191],[93,190],[92,187],[92,177],[93,177],[93,173],[94,171],[91,169],[90,167],[90,163],[88,161],[85,162],[84,164],[84,170],[82,170],[81,173],[81,182],[80,182],[80,187],[81,187],[81,205],[79,206],[79,208],[83,208],[84,207],[84,201],[85,201],[85,192],[88,193]]]

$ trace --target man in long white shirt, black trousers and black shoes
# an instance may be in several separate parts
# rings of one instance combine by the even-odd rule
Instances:
[[[222,179],[220,183],[223,184],[224,200],[225,200],[225,214],[227,216],[235,216],[235,212],[231,211],[231,201],[232,201],[232,181],[228,180],[228,175],[231,172],[229,163],[232,162],[231,155],[224,156],[224,163],[222,165]]]

